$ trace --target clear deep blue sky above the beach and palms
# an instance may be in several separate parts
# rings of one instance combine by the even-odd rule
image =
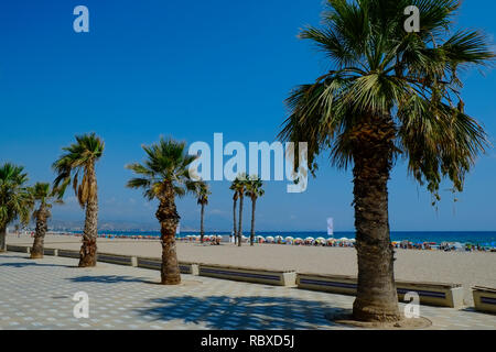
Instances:
[[[89,9],[90,32],[73,31],[73,9]],[[51,164],[75,134],[106,141],[98,165],[100,219],[153,223],[155,204],[125,188],[123,166],[143,160],[141,144],[160,135],[188,143],[273,141],[285,117],[283,100],[298,84],[328,68],[296,38],[319,24],[320,0],[266,1],[9,1],[0,4],[0,163],[24,165],[32,182],[53,180]],[[496,32],[496,3],[464,1],[457,25]],[[496,135],[494,70],[463,75],[468,113]],[[287,183],[267,184],[260,230],[353,230],[352,174],[322,157],[317,178],[302,195]],[[399,163],[390,183],[392,230],[496,230],[496,151],[482,157],[454,204],[443,193],[438,209]],[[214,183],[206,227],[231,228],[231,195]],[[446,184],[444,188],[448,188]],[[54,217],[83,219],[74,197]],[[246,207],[249,208],[249,207]],[[196,228],[192,198],[179,201],[183,223]],[[249,212],[245,215],[248,229]]]

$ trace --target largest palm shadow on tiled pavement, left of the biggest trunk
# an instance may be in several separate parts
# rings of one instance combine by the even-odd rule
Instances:
[[[314,330],[338,326],[326,315],[346,312],[321,301],[288,297],[168,297],[150,300],[154,307],[134,311],[155,322],[181,319],[213,330]]]

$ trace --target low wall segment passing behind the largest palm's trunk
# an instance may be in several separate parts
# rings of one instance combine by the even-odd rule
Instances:
[[[298,274],[298,288],[327,292],[332,294],[356,295],[357,278],[342,275]],[[398,298],[414,292],[423,305],[461,308],[463,287],[460,284],[396,282]]]

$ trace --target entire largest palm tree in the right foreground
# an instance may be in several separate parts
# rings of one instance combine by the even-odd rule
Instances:
[[[405,31],[408,6],[420,10],[419,33]],[[309,143],[312,170],[326,148],[333,165],[353,165],[357,320],[401,319],[388,219],[395,161],[402,156],[411,175],[439,199],[443,177],[462,191],[487,143],[464,111],[457,74],[495,55],[479,32],[452,34],[459,8],[457,0],[330,0],[324,28],[301,33],[326,54],[333,69],[290,95],[280,136]]]

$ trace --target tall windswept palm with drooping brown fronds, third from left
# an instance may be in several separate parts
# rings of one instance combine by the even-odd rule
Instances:
[[[83,134],[76,135],[76,143],[62,150],[64,153],[52,166],[57,174],[53,188],[62,199],[67,186],[73,185],[80,207],[86,209],[83,245],[79,251],[79,267],[96,266],[98,187],[95,167],[104,155],[105,143],[95,133]]]

